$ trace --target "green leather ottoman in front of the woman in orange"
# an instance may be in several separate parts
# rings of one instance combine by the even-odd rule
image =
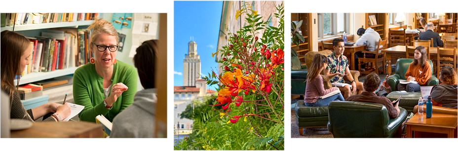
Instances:
[[[394,101],[399,98],[401,93],[396,91],[386,95],[390,101]],[[418,105],[418,99],[421,97],[421,92],[406,92],[402,95],[401,100],[399,101],[399,107],[402,107],[407,110],[407,114],[414,112],[414,107]]]

